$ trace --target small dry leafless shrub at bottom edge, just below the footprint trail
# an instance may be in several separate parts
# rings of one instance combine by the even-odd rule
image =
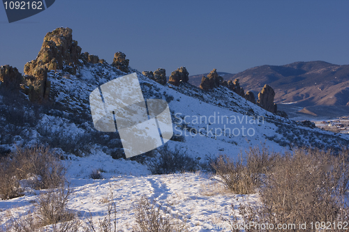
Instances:
[[[156,206],[156,202],[151,202],[146,196],[142,196],[135,206],[135,220],[135,231],[188,231],[183,222],[178,222],[170,216],[167,208]]]

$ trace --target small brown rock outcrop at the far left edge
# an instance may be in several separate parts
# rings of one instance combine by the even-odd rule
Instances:
[[[1,87],[7,89],[19,89],[23,81],[22,74],[18,72],[17,68],[10,65],[3,65],[0,67],[0,81],[3,82]]]

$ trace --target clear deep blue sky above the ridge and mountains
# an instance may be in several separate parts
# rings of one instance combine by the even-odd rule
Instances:
[[[73,29],[82,52],[140,71],[184,65],[190,75],[295,61],[349,64],[349,1],[56,0],[8,23],[0,6],[0,65],[23,72],[48,31]]]

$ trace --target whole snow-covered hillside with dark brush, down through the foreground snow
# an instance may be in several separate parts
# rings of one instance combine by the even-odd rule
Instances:
[[[290,146],[317,148],[348,147],[348,134],[334,134],[276,116],[245,100],[226,87],[202,91],[188,83],[161,85],[136,72],[144,99],[168,102],[174,136],[170,150],[181,150],[198,162],[197,173],[151,175],[151,162],[159,150],[124,159],[117,132],[97,132],[92,122],[89,94],[112,79],[126,75],[112,65],[85,63],[76,75],[62,70],[48,72],[50,100],[46,105],[29,103],[18,93],[0,98],[1,154],[16,146],[45,144],[56,150],[68,168],[67,178],[74,194],[68,208],[80,219],[95,223],[107,215],[111,192],[116,203],[117,229],[131,231],[135,225],[134,204],[141,196],[156,200],[172,217],[185,222],[189,231],[227,231],[232,205],[237,210],[242,196],[227,192],[212,178],[205,164],[220,154],[233,159],[249,147],[262,146],[283,152]],[[200,164],[200,165],[199,165]],[[90,178],[98,170],[103,180]],[[44,191],[45,192],[45,191]],[[30,214],[40,191],[28,188],[24,196],[0,201],[3,229],[11,220]],[[244,196],[258,201],[258,195]],[[49,226],[50,227],[50,226]]]

